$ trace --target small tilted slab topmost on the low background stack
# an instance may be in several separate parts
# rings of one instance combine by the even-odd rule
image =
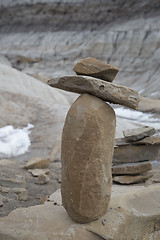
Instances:
[[[154,134],[155,134],[155,129],[148,126],[123,131],[123,135],[128,142],[135,142],[145,137],[152,136]]]

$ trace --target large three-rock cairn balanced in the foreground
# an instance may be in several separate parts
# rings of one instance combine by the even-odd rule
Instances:
[[[70,107],[62,133],[62,203],[76,222],[87,223],[107,211],[111,187],[116,117],[106,103],[137,109],[140,95],[113,84],[119,69],[95,58],[83,59],[76,75],[52,78],[51,87],[81,94]]]

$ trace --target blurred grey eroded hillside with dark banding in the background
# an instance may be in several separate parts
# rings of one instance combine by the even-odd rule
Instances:
[[[156,0],[1,1],[0,54],[41,78],[96,57],[120,68],[117,83],[160,98],[159,13]]]

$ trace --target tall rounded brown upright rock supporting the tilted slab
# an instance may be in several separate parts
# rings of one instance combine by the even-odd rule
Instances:
[[[62,134],[62,202],[69,216],[85,223],[108,207],[115,139],[115,113],[101,99],[81,95],[68,111]]]

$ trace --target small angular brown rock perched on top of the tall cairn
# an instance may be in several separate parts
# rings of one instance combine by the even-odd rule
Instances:
[[[119,72],[119,69],[96,58],[89,57],[78,62],[73,68],[73,71],[75,71],[77,75],[86,75],[112,82]]]

